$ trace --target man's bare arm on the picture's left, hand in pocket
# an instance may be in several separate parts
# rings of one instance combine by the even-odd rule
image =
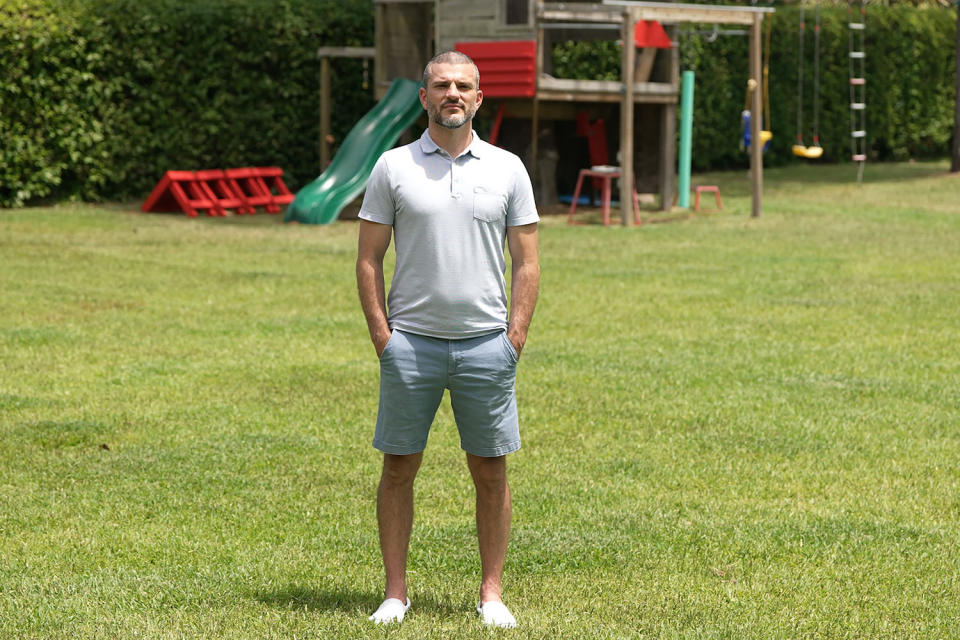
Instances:
[[[383,353],[390,339],[387,324],[387,301],[383,283],[383,256],[390,246],[393,227],[388,224],[360,221],[360,240],[357,243],[357,291],[360,306],[367,318],[370,340],[377,351]]]

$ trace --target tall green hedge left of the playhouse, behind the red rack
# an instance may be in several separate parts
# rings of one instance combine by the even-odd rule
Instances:
[[[373,40],[369,0],[0,0],[0,206],[143,197],[167,169],[319,168],[316,49]],[[372,104],[335,64],[338,138]]]

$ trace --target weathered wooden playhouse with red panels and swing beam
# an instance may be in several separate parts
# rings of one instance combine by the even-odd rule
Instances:
[[[603,0],[374,0],[376,47],[374,94],[379,99],[397,77],[419,80],[435,52],[462,50],[477,63],[485,103],[497,112],[494,131],[506,118],[530,122],[528,169],[540,166],[540,131],[550,121],[576,120],[588,105],[619,106],[620,220],[633,224],[634,185],[656,182],[661,208],[676,190],[677,105],[680,56],[677,27],[683,24],[746,27],[750,55],[746,76],[761,82],[761,30],[771,8]],[[661,34],[657,41],[656,34]],[[652,35],[651,35],[652,34]],[[551,44],[562,40],[611,39],[622,47],[619,80],[574,80],[550,73]],[[663,40],[666,36],[667,44]],[[519,45],[519,46],[518,46]],[[366,52],[364,52],[366,53]],[[335,51],[329,55],[335,56]],[[752,113],[761,113],[761,93],[752,92]],[[638,127],[638,109],[642,122]],[[753,140],[761,119],[751,119]],[[643,171],[637,160],[643,159]],[[763,193],[762,145],[750,147],[752,215],[759,216]]]

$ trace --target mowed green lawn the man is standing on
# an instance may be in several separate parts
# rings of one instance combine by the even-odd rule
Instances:
[[[355,223],[0,213],[2,638],[960,636],[960,178],[541,230],[506,601],[449,405],[381,597]],[[657,216],[651,216],[656,218]],[[391,258],[392,259],[392,258]]]

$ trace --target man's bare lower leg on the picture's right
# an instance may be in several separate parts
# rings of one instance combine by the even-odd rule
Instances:
[[[501,602],[512,511],[507,458],[481,458],[468,453],[467,466],[477,489],[477,539],[482,574],[480,602]]]

